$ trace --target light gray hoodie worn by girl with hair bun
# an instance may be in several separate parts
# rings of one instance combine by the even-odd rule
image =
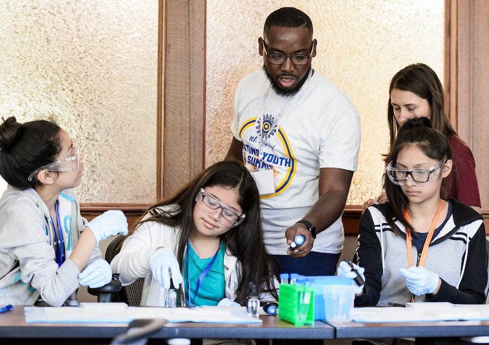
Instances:
[[[75,193],[63,191],[58,208],[65,250],[60,267],[50,214],[39,194],[9,185],[0,198],[0,304],[33,305],[40,298],[61,306],[80,286],[80,271],[68,258],[84,228]],[[90,261],[100,257],[95,247]]]

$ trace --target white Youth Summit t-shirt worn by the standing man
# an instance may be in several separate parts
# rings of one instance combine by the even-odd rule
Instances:
[[[284,97],[271,88],[264,71],[257,71],[241,79],[235,95],[231,130],[243,142],[245,165],[250,171],[274,169],[275,193],[261,197],[271,254],[286,254],[285,229],[319,198],[320,168],[357,169],[360,117],[341,90],[319,72],[311,73],[299,92]],[[338,218],[317,234],[312,250],[339,253],[343,242]]]

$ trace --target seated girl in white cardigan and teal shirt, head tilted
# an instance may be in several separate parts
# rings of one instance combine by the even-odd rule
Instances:
[[[249,282],[262,302],[277,300],[258,190],[237,162],[210,166],[150,207],[111,267],[123,285],[145,277],[141,305],[164,305],[170,272],[181,305],[244,305]]]

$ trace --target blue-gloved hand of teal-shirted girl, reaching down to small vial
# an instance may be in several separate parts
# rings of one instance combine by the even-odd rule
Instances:
[[[170,272],[172,272],[173,285],[176,289],[183,282],[177,258],[168,248],[155,250],[150,258],[150,267],[153,278],[166,289],[170,288]]]

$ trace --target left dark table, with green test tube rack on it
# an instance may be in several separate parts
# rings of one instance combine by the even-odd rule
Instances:
[[[69,307],[67,307],[69,308]],[[333,339],[334,328],[321,321],[314,326],[294,326],[277,316],[260,316],[262,324],[168,323],[153,338],[216,339]],[[127,331],[128,324],[26,323],[23,306],[0,314],[2,338],[104,338]]]

